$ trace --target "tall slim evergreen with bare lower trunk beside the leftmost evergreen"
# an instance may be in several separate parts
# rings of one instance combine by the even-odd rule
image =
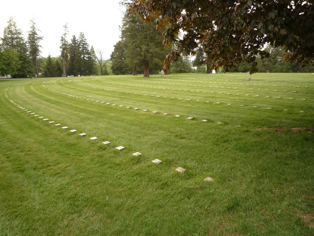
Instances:
[[[33,59],[36,76],[39,78],[39,71],[38,71],[38,58],[40,57],[41,53],[41,45],[39,44],[43,37],[39,36],[36,28],[36,23],[34,19],[30,20],[30,31],[28,33],[27,43],[29,48],[29,53],[31,58]]]

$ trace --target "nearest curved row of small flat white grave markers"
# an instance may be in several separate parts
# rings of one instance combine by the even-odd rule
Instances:
[[[21,110],[27,111],[27,113],[30,113],[31,115],[34,115],[35,117],[38,117],[38,118],[40,118],[40,119],[44,118],[43,116],[39,116],[39,115],[37,115],[35,112],[29,111],[28,109],[25,109],[25,108],[22,107],[21,105],[15,103],[12,99],[10,99],[10,98],[8,97],[8,95],[7,95],[7,93],[6,93],[7,90],[8,90],[8,88],[5,90],[5,93],[4,93],[4,94],[5,94],[5,97],[9,100],[10,103],[14,104],[16,107],[20,108]],[[49,121],[49,119],[48,119],[48,118],[45,118],[45,119],[43,119],[43,121]],[[54,122],[54,121],[49,121],[49,123],[50,123],[50,124],[53,124],[53,123],[55,123],[55,122]],[[61,126],[61,124],[58,123],[58,124],[55,124],[55,126]],[[68,129],[68,126],[63,126],[62,129]],[[74,132],[77,132],[77,130],[73,129],[73,130],[70,130],[70,132],[74,133]],[[80,135],[80,136],[86,136],[87,134],[86,134],[86,133],[80,133],[79,135]],[[97,137],[92,137],[92,138],[90,138],[90,139],[91,139],[91,140],[96,140],[96,139],[98,139],[98,138],[97,138]],[[102,143],[105,144],[105,145],[110,144],[109,141],[105,141],[105,142],[102,142]],[[120,151],[120,150],[124,149],[124,147],[123,147],[123,146],[118,146],[118,147],[116,147],[116,149]],[[140,156],[140,155],[142,155],[142,154],[139,153],[139,152],[135,152],[135,153],[133,153],[132,155],[133,155],[133,156]],[[160,163],[162,162],[162,160],[155,159],[155,160],[152,160],[152,162],[153,162],[153,163],[156,163],[156,164],[160,164]],[[182,168],[182,167],[178,167],[178,168],[176,168],[176,171],[178,171],[178,172],[180,172],[180,173],[183,173],[183,172],[185,171],[185,169]],[[206,177],[206,178],[204,179],[204,181],[212,182],[212,181],[214,181],[214,179],[211,178],[211,177]]]

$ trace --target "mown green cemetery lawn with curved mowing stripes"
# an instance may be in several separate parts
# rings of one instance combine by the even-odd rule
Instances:
[[[314,74],[0,80],[0,104],[0,235],[314,235]]]

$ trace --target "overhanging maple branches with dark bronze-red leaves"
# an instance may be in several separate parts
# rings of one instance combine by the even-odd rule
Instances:
[[[284,46],[285,59],[313,62],[314,59],[314,1],[272,0],[138,0],[129,6],[164,32],[164,44],[170,47],[180,31],[176,50],[169,53],[165,65],[181,54],[194,55],[200,43],[212,69],[225,71],[247,61],[250,73],[257,72],[257,57],[269,53],[264,45]],[[157,18],[157,20],[155,20]]]

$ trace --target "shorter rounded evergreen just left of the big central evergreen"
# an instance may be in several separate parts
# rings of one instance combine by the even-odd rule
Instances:
[[[112,61],[111,71],[114,75],[127,75],[129,73],[130,69],[126,63],[124,42],[122,40],[114,45],[110,60]]]

